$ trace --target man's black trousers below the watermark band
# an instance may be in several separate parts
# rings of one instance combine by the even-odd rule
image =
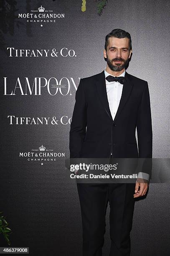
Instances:
[[[134,188],[134,183],[77,183],[83,227],[83,256],[102,256],[108,202],[109,256],[130,255]]]

